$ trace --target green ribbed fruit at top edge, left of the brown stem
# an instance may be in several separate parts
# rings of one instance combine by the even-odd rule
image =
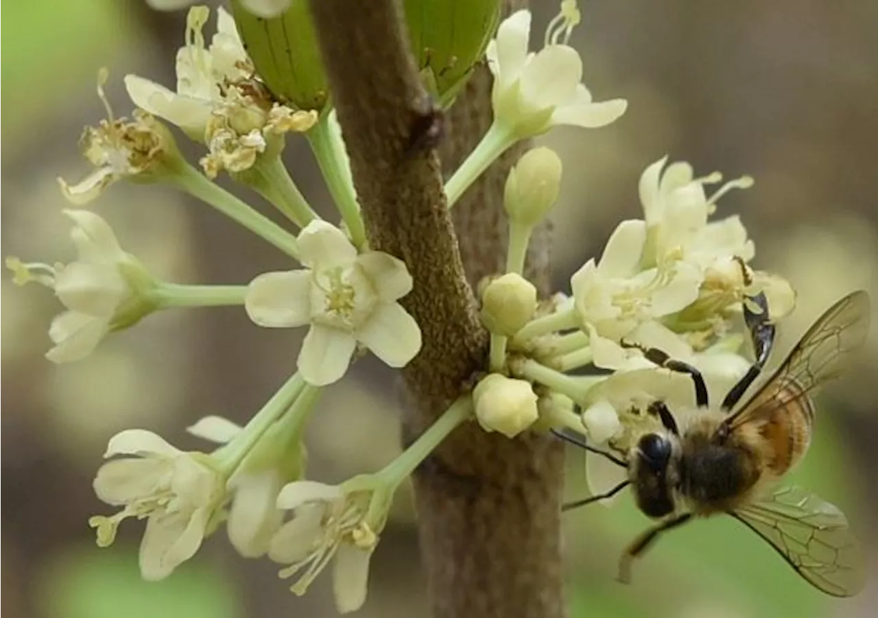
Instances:
[[[322,111],[329,100],[317,34],[306,0],[291,0],[276,18],[248,12],[232,0],[234,21],[244,47],[271,94],[300,110]]]

